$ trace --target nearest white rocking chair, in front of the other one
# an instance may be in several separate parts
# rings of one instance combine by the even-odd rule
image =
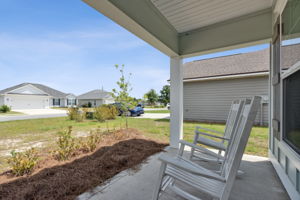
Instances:
[[[153,200],[157,200],[166,188],[183,198],[201,200],[178,186],[177,181],[206,193],[214,199],[227,200],[229,198],[260,105],[260,97],[246,100],[245,104],[221,173],[210,171],[181,156],[174,158],[162,155],[159,158],[162,164]]]

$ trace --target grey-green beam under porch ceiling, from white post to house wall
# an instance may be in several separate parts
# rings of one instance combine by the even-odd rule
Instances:
[[[269,43],[272,38],[272,9],[227,20],[179,34],[183,58]]]

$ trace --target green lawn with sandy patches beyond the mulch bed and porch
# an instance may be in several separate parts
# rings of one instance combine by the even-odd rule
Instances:
[[[169,141],[169,120],[161,119],[137,119],[128,118],[130,128],[139,129],[146,137],[160,140],[162,142]],[[184,139],[192,141],[194,137],[194,128],[201,125],[217,131],[223,131],[224,125],[221,124],[204,124],[196,122],[185,122],[183,126]],[[42,142],[46,146],[51,146],[56,140],[57,132],[72,126],[74,132],[88,132],[91,129],[117,129],[125,127],[124,118],[117,118],[107,122],[84,121],[75,122],[68,120],[66,117],[48,118],[48,119],[32,119],[20,121],[0,122],[0,168],[5,167],[5,155],[12,149],[20,149]],[[253,127],[251,136],[245,153],[267,156],[268,151],[268,128]],[[1,166],[2,165],[2,166]]]

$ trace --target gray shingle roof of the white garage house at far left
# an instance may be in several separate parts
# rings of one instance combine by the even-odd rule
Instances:
[[[20,87],[23,87],[23,86],[26,86],[26,85],[33,85],[34,87],[36,87],[36,88],[42,90],[43,92],[47,93],[49,96],[56,97],[56,98],[64,98],[68,95],[68,94],[63,93],[61,91],[58,91],[58,90],[55,90],[55,89],[50,88],[48,86],[45,86],[45,85],[42,85],[42,84],[37,84],[37,83],[21,83],[19,85],[15,85],[15,86],[6,88],[4,90],[0,90],[0,94],[9,93],[12,90],[15,90],[17,88],[20,88]]]

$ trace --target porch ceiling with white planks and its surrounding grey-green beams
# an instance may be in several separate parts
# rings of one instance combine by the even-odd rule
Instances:
[[[276,0],[83,0],[169,56],[268,42]]]

